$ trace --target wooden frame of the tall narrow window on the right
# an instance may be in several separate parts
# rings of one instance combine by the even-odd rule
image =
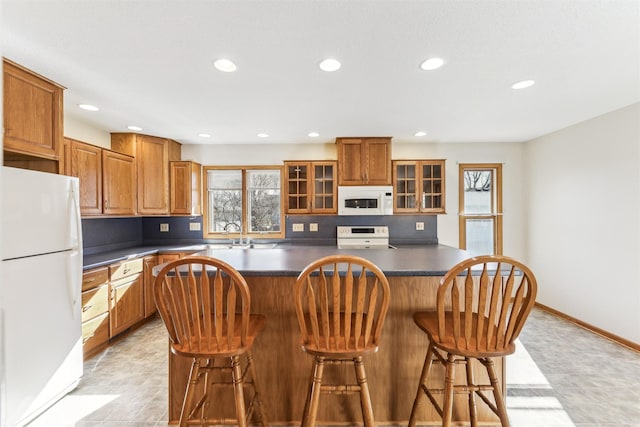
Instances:
[[[467,171],[491,172],[494,188],[492,188],[492,206],[490,213],[465,213],[464,174]],[[493,252],[502,255],[503,227],[502,227],[502,163],[459,163],[458,164],[458,234],[459,248],[467,249],[467,220],[468,219],[493,219]]]

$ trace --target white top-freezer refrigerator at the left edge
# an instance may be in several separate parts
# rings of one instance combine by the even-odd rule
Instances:
[[[0,425],[22,426],[82,376],[78,179],[3,167]]]

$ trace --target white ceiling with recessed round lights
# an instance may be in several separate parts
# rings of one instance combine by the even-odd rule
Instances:
[[[2,54],[64,85],[66,114],[185,144],[526,141],[640,101],[638,0],[3,0],[1,13]],[[432,56],[444,67],[422,71]],[[219,57],[238,71],[215,70]],[[326,57],[342,68],[320,71]]]

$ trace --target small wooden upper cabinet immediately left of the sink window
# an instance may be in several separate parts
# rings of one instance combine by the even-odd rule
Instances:
[[[171,215],[202,213],[202,166],[191,161],[170,162]]]

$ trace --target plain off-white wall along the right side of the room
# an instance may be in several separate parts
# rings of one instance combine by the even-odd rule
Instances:
[[[538,301],[640,343],[640,104],[526,144]]]

